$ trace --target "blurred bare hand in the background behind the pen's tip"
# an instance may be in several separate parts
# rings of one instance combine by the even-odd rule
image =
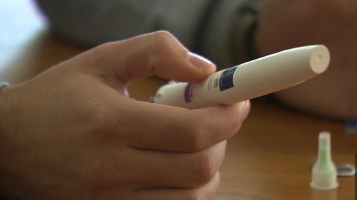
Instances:
[[[331,52],[328,70],[276,93],[278,99],[315,114],[357,117],[357,1],[261,1],[256,35],[261,55],[309,44]]]

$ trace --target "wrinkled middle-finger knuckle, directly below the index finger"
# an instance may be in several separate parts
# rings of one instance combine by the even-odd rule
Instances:
[[[210,182],[216,174],[215,161],[211,154],[203,154],[199,159],[198,179],[202,183]]]

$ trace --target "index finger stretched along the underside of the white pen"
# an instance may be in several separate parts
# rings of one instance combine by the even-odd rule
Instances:
[[[135,102],[136,111],[126,116],[122,136],[135,148],[195,152],[225,141],[240,129],[250,102],[187,110],[146,102]],[[120,127],[117,127],[120,130]],[[122,127],[121,127],[122,128]],[[122,129],[123,130],[123,129]]]

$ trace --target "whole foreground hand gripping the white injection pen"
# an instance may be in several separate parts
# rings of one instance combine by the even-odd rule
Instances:
[[[129,98],[131,79],[215,65],[155,32],[98,46],[0,95],[0,190],[28,200],[214,199],[249,101],[198,110]]]

